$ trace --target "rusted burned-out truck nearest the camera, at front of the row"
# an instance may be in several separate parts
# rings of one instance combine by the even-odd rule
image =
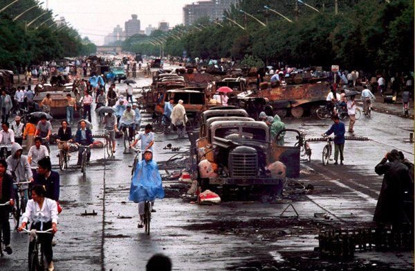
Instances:
[[[241,187],[282,191],[286,168],[275,155],[282,152],[276,151],[279,146],[271,141],[266,123],[243,116],[215,116],[202,125],[194,144],[201,191],[224,193],[224,188]]]

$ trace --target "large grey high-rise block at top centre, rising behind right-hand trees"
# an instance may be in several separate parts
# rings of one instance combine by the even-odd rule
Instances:
[[[238,0],[209,0],[199,1],[184,6],[183,23],[186,26],[194,24],[201,17],[210,17],[211,19],[221,18],[223,10],[226,10]]]

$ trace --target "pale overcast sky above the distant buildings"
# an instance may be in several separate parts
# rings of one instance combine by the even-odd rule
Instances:
[[[44,6],[46,1],[44,0]],[[197,1],[197,0],[196,0]],[[104,36],[119,24],[124,30],[124,21],[131,14],[138,15],[141,30],[149,24],[158,26],[159,21],[169,26],[183,24],[183,6],[194,0],[48,0],[48,6],[58,17],[77,28],[82,37],[88,36],[95,44],[102,45]]]

